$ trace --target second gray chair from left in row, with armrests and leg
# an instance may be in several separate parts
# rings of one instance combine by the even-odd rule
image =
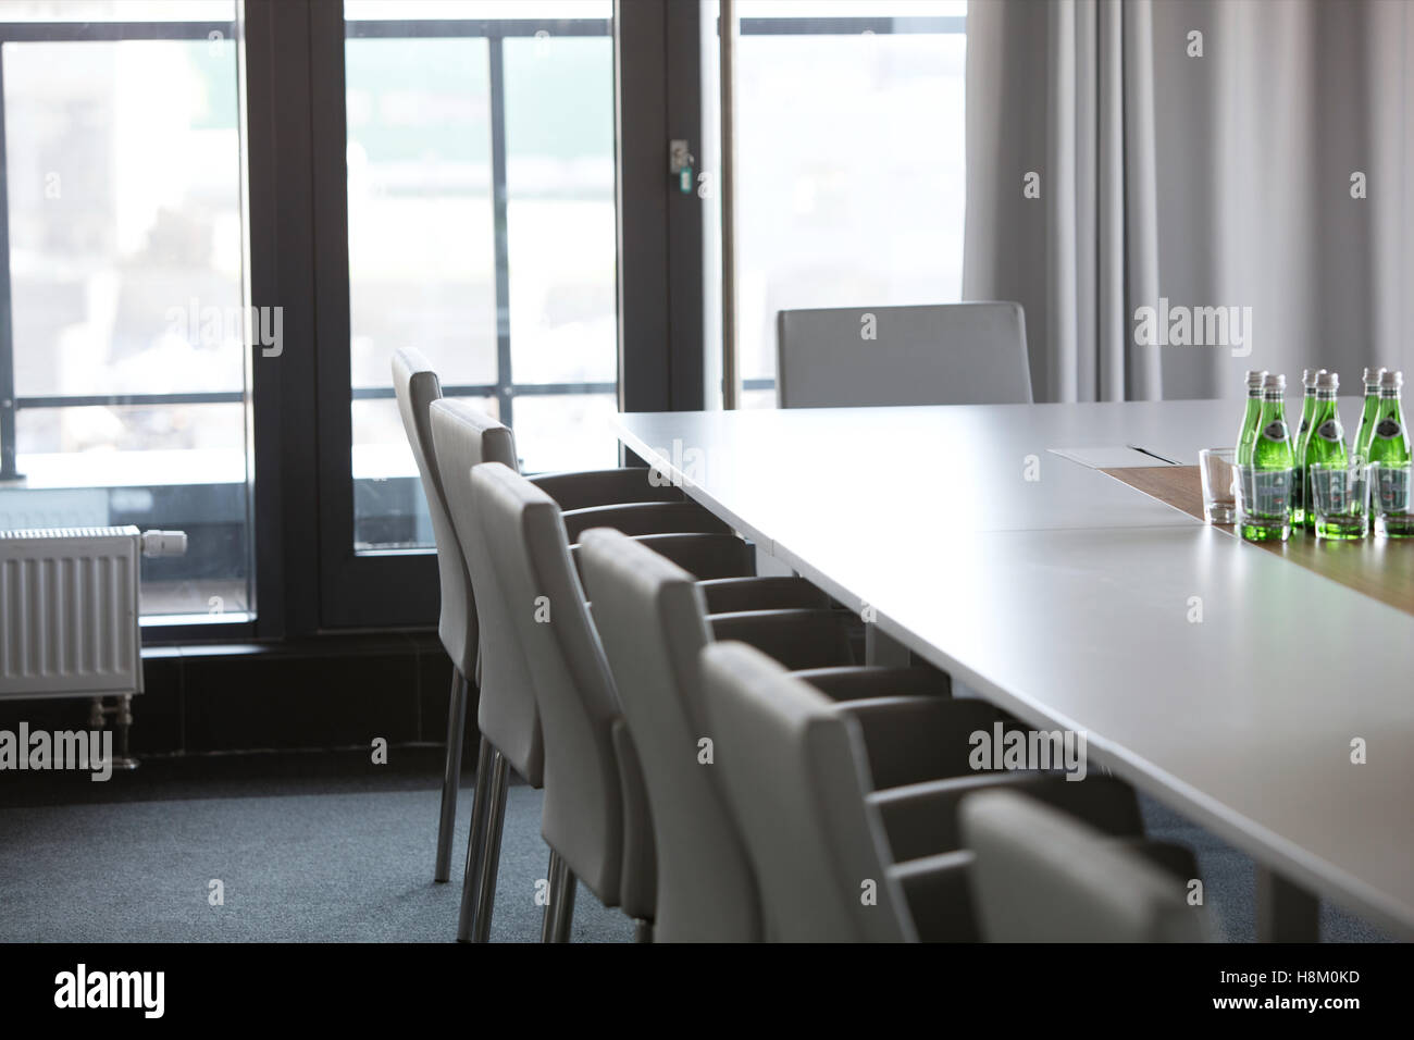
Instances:
[[[457,545],[471,577],[472,606],[479,601],[485,614],[478,679],[481,744],[457,930],[460,940],[485,941],[495,901],[508,768],[515,768],[534,787],[542,784],[543,768],[540,720],[529,672],[515,628],[501,607],[505,596],[472,505],[472,467],[495,461],[515,470],[516,450],[510,429],[469,402],[434,400],[428,412],[440,487],[445,490]],[[741,576],[742,567],[749,570],[752,565],[749,546],[735,535],[723,533],[721,525],[700,507],[683,502],[679,490],[652,484],[648,473],[643,467],[561,473],[536,477],[532,483],[566,509],[566,524],[575,529],[584,526],[581,518],[633,529],[669,528],[669,533],[639,535],[638,539],[704,573],[728,574],[704,583],[708,599],[718,600],[727,610],[742,610],[751,601],[768,607],[823,606],[823,593],[800,579]],[[653,495],[659,501],[636,501]],[[573,549],[577,552],[578,546]],[[460,726],[455,734],[448,734],[448,757],[455,741],[458,761],[460,737]]]

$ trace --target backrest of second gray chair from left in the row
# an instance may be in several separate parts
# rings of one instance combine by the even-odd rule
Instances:
[[[472,468],[482,463],[515,468],[515,439],[508,426],[471,402],[448,398],[433,402],[431,429],[441,487],[471,573],[481,623],[477,723],[510,767],[533,787],[540,787],[544,744],[530,668],[520,648],[520,635],[506,613],[508,600],[477,519],[471,484]]]

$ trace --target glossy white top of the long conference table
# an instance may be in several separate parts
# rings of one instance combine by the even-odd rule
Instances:
[[[877,645],[1249,853],[1258,938],[1329,899],[1414,937],[1414,601],[1321,573],[1414,543],[1243,542],[1126,483],[1236,440],[1243,402],[618,416],[619,440]],[[1342,400],[1353,420],[1357,400]],[[1176,470],[1176,467],[1175,467]],[[1295,533],[1294,539],[1308,535]],[[1294,546],[1292,548],[1299,548]],[[884,651],[881,651],[882,654]]]

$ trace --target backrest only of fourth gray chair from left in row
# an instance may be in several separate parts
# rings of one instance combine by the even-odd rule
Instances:
[[[697,580],[632,538],[584,532],[580,570],[594,624],[638,749],[658,850],[662,942],[755,942],[761,917],[751,863],[703,761],[708,736],[700,655],[711,642]]]

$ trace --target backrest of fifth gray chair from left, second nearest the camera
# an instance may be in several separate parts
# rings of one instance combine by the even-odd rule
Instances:
[[[888,870],[858,724],[741,642],[701,654],[703,686],[732,815],[778,942],[916,940]],[[874,900],[865,894],[872,891]]]

